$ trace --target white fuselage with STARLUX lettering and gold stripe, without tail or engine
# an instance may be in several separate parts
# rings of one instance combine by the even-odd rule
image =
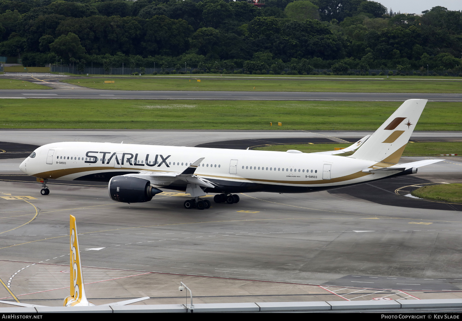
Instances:
[[[113,176],[124,174],[182,173],[202,157],[204,160],[195,175],[216,182],[223,186],[223,191],[230,192],[308,192],[392,174],[364,173],[365,168],[387,165],[344,156],[95,142],[44,145],[35,150],[34,158],[24,160],[20,169],[43,179],[109,181]],[[186,184],[172,186],[155,178],[151,183],[177,190],[186,187]]]

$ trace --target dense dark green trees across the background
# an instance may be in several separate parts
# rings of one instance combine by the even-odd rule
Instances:
[[[462,13],[368,0],[0,0],[0,55],[24,66],[462,72]]]

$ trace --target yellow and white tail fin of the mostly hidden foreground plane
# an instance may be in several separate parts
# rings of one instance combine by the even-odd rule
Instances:
[[[63,306],[92,305],[85,296],[82,265],[80,263],[79,240],[77,239],[77,225],[75,216],[70,215],[70,277],[71,295],[64,299]]]

